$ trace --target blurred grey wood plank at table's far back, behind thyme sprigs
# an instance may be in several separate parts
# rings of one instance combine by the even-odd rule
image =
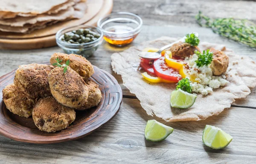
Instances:
[[[146,25],[198,26],[195,15],[199,10],[211,18],[247,18],[256,22],[255,8],[253,0],[119,0],[115,1],[113,12],[133,12]]]

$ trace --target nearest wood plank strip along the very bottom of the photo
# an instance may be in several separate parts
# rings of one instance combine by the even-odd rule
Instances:
[[[61,147],[57,149],[57,147]],[[159,149],[152,147],[105,144],[84,141],[71,141],[69,144],[58,144],[49,149],[46,146],[30,146],[23,153],[14,151],[20,146],[8,145],[3,151],[9,156],[0,156],[2,163],[50,163],[50,164],[82,164],[82,163],[132,163],[132,164],[204,164],[204,163],[253,163],[256,157],[236,156],[221,153],[183,151],[175,149]],[[37,148],[35,150],[35,147]],[[33,156],[33,157],[32,157]]]

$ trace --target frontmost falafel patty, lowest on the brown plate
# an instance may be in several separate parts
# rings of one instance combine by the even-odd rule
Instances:
[[[56,132],[67,128],[76,119],[76,112],[49,96],[35,104],[32,117],[39,130]]]

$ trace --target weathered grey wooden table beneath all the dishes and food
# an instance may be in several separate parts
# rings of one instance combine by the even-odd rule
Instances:
[[[255,11],[252,9],[256,3],[216,0],[215,4],[213,1],[114,2],[113,11],[131,11],[139,14],[144,20],[143,30],[132,44],[116,48],[104,42],[96,54],[88,58],[93,65],[115,76],[121,85],[123,102],[119,113],[101,129],[76,141],[28,144],[0,136],[0,163],[255,163],[256,89],[253,89],[246,99],[236,100],[232,107],[225,109],[219,116],[198,122],[164,122],[146,114],[136,96],[122,85],[121,76],[116,75],[111,68],[110,56],[113,52],[123,51],[145,40],[160,36],[181,37],[191,31],[197,31],[201,41],[225,44],[236,54],[248,55],[256,61],[255,49],[219,37],[207,28],[198,27],[194,22],[198,8],[192,6],[195,4],[203,11],[208,11],[210,6],[213,6],[215,12],[209,11],[211,16],[239,15],[256,20]],[[157,4],[162,8],[172,6],[169,8],[170,13],[161,13]],[[154,23],[157,25],[153,25]],[[61,49],[58,47],[30,51],[0,51],[0,76],[18,65],[46,62],[54,52],[59,51]],[[144,128],[149,119],[156,119],[173,127],[174,132],[161,142],[145,141]],[[201,139],[206,124],[222,128],[233,136],[233,141],[223,150],[206,147]]]

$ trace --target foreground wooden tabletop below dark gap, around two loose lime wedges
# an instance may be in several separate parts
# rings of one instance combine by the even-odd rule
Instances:
[[[146,121],[156,119],[173,127],[161,142],[144,139]],[[137,99],[123,99],[119,113],[101,129],[76,141],[58,144],[28,144],[0,136],[1,162],[7,163],[252,163],[256,161],[253,109],[232,107],[204,121],[164,122],[148,116]],[[223,150],[204,146],[206,124],[230,133],[233,141]],[[198,161],[199,160],[199,161]],[[232,161],[230,161],[232,160]]]

